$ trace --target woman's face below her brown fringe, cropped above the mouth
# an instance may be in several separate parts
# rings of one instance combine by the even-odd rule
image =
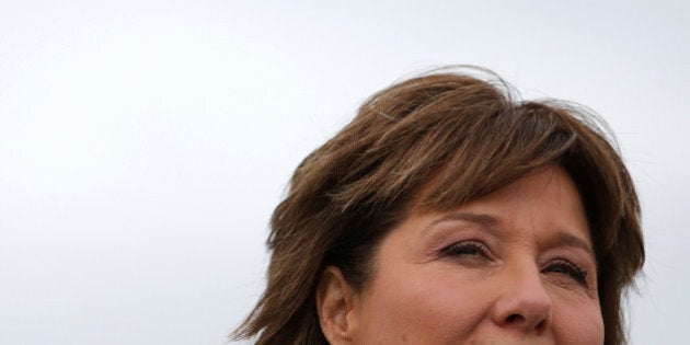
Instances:
[[[410,216],[375,267],[352,310],[356,344],[603,343],[587,220],[557,166]]]

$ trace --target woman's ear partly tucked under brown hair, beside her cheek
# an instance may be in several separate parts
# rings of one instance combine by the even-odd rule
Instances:
[[[329,266],[317,287],[321,330],[331,344],[354,344],[357,333],[358,296],[341,269]]]

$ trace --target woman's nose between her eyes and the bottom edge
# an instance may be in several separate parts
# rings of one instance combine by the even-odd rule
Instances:
[[[543,333],[551,325],[551,297],[537,267],[507,275],[494,306],[494,322],[526,333]]]

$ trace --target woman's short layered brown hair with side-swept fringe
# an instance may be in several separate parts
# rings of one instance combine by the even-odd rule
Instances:
[[[556,163],[585,205],[605,344],[625,342],[621,298],[643,265],[644,246],[635,188],[610,131],[582,106],[519,101],[490,71],[465,70],[376,93],[301,162],[272,218],[266,290],[235,338],[327,344],[314,301],[326,266],[360,289],[378,244],[412,207],[451,209]]]

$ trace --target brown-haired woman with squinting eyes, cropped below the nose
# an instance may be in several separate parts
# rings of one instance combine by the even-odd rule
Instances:
[[[437,72],[369,99],[272,219],[257,344],[622,344],[644,262],[601,122]],[[488,74],[488,76],[486,76]]]

